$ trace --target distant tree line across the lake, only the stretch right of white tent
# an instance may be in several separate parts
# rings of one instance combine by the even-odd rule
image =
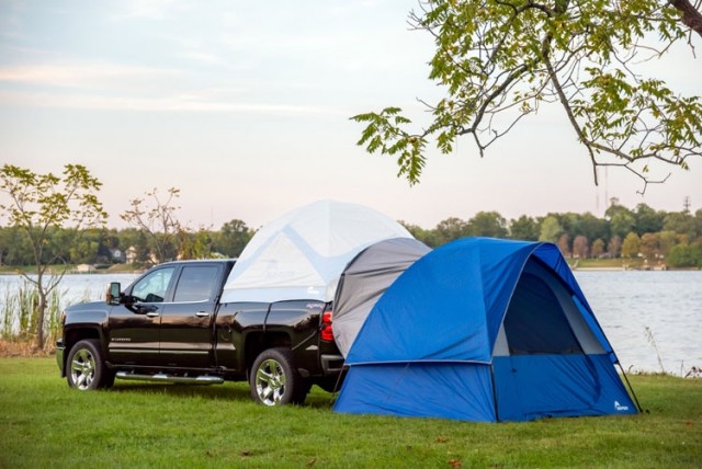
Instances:
[[[553,242],[568,259],[643,258],[670,267],[702,267],[702,209],[669,213],[646,204],[630,209],[612,199],[603,218],[551,213],[508,221],[497,211],[480,211],[468,220],[446,218],[430,230],[403,225],[432,248],[478,236]]]

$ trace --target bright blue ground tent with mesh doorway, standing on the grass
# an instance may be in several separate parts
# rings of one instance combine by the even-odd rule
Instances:
[[[636,413],[616,363],[554,244],[462,239],[375,304],[335,410],[487,422]]]

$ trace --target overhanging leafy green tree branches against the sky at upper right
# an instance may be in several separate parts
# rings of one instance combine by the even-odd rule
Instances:
[[[519,121],[557,103],[573,136],[598,167],[639,176],[649,164],[688,169],[702,156],[702,100],[647,77],[643,62],[702,36],[702,15],[689,0],[427,0],[409,23],[434,38],[429,78],[445,98],[424,103],[432,122],[411,128],[399,107],[359,114],[358,145],[397,159],[398,175],[419,181],[433,139],[443,153],[471,136],[483,156]],[[657,37],[656,37],[657,36]]]

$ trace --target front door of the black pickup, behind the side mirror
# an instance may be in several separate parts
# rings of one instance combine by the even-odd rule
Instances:
[[[174,266],[150,271],[125,291],[134,301],[110,311],[109,359],[115,365],[154,366],[159,362],[159,328]]]

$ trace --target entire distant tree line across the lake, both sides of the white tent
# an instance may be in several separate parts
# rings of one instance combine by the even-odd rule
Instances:
[[[604,217],[586,214],[522,215],[508,220],[497,211],[479,211],[468,220],[451,217],[433,229],[400,221],[431,248],[464,237],[492,237],[550,241],[568,259],[643,258],[671,267],[702,267],[702,209],[695,213],[655,210],[646,204],[634,209],[613,203]],[[253,236],[245,221],[233,219],[219,230],[143,228],[54,228],[46,250],[68,264],[143,265],[174,259],[236,258]],[[0,227],[0,264],[32,265],[31,245],[18,228]]]

